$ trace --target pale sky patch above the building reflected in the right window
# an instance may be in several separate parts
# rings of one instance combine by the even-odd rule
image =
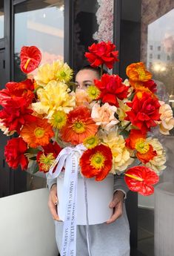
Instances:
[[[148,25],[148,41],[162,41],[174,36],[174,9]]]

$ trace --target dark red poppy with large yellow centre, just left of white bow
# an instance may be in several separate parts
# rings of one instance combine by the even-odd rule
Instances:
[[[42,148],[44,151],[39,151],[37,154],[37,162],[39,163],[39,171],[47,172],[60,153],[61,147],[57,142],[53,142],[42,146]]]

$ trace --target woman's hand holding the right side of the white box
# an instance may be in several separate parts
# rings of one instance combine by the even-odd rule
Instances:
[[[107,224],[113,223],[118,217],[121,217],[123,214],[123,201],[124,201],[124,192],[118,190],[113,195],[113,201],[110,202],[110,208],[113,208],[113,215],[107,220]]]

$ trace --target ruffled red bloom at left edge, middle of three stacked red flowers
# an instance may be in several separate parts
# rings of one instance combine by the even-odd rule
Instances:
[[[33,110],[27,108],[27,101],[24,98],[15,98],[8,101],[7,108],[0,111],[0,118],[9,131],[20,133],[21,126],[25,122],[35,122],[36,116],[32,116]]]

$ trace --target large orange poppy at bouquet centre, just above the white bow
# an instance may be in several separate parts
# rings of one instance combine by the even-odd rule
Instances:
[[[78,107],[67,115],[67,124],[60,130],[61,139],[78,145],[87,137],[95,135],[98,126],[90,116],[90,110],[84,106]]]

